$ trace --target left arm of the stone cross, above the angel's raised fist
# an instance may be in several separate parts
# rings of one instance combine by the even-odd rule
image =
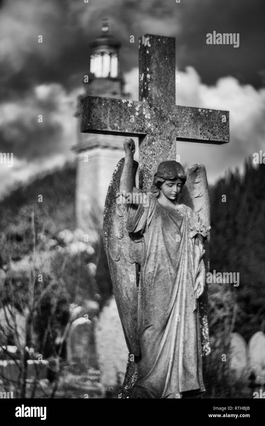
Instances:
[[[87,96],[81,99],[80,131],[144,136],[148,131],[145,102]]]

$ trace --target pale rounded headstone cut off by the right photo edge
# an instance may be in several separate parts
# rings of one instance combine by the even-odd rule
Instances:
[[[257,331],[248,342],[249,363],[256,377],[256,384],[265,384],[265,334]]]

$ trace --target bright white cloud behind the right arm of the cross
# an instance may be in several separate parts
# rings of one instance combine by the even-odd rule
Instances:
[[[229,111],[230,142],[223,145],[177,142],[177,154],[183,164],[205,164],[208,180],[213,183],[228,168],[242,170],[244,159],[264,147],[265,89],[242,85],[234,77],[220,78],[214,86],[202,84],[193,67],[187,67],[176,83],[176,104],[187,107]],[[138,100],[138,68],[125,75],[126,91]]]

